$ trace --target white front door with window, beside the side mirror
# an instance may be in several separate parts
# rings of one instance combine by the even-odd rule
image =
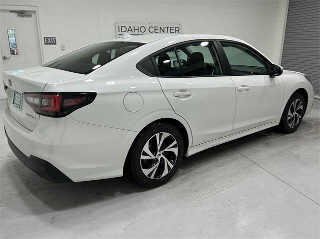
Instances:
[[[282,77],[271,77],[268,72],[272,64],[245,44],[220,41],[219,46],[236,88],[231,134],[275,122],[283,100]]]

